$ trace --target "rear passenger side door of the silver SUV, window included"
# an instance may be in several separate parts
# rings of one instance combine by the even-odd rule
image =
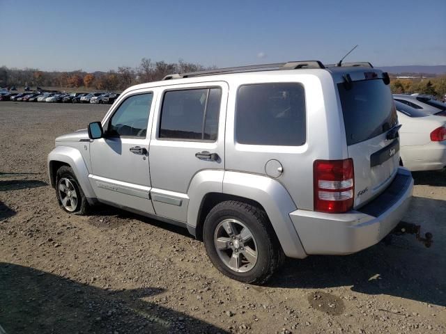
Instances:
[[[224,169],[225,82],[158,89],[149,163],[155,213],[187,220],[187,191],[201,170]]]

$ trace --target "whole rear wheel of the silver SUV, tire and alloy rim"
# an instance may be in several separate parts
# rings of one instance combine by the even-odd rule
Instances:
[[[203,240],[215,267],[243,283],[266,283],[284,261],[266,213],[244,202],[221,202],[211,209]]]

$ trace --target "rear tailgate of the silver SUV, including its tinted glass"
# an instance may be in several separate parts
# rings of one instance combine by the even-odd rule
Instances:
[[[341,82],[337,88],[348,157],[355,168],[353,206],[358,208],[378,196],[397,174],[399,138],[390,135],[398,123],[397,111],[383,79]]]

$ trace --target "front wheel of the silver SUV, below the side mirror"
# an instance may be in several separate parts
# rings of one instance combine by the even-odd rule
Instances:
[[[89,202],[71,167],[62,166],[57,170],[56,196],[59,206],[66,212],[79,215],[88,212]]]

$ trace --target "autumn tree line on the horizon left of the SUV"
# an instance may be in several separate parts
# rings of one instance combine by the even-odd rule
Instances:
[[[151,61],[142,58],[137,67],[122,66],[118,70],[108,72],[85,72],[75,70],[70,72],[47,72],[33,68],[17,69],[0,67],[0,87],[59,87],[59,88],[93,88],[97,90],[124,90],[134,84],[157,81],[168,74],[195,72],[215,67],[187,63]]]

